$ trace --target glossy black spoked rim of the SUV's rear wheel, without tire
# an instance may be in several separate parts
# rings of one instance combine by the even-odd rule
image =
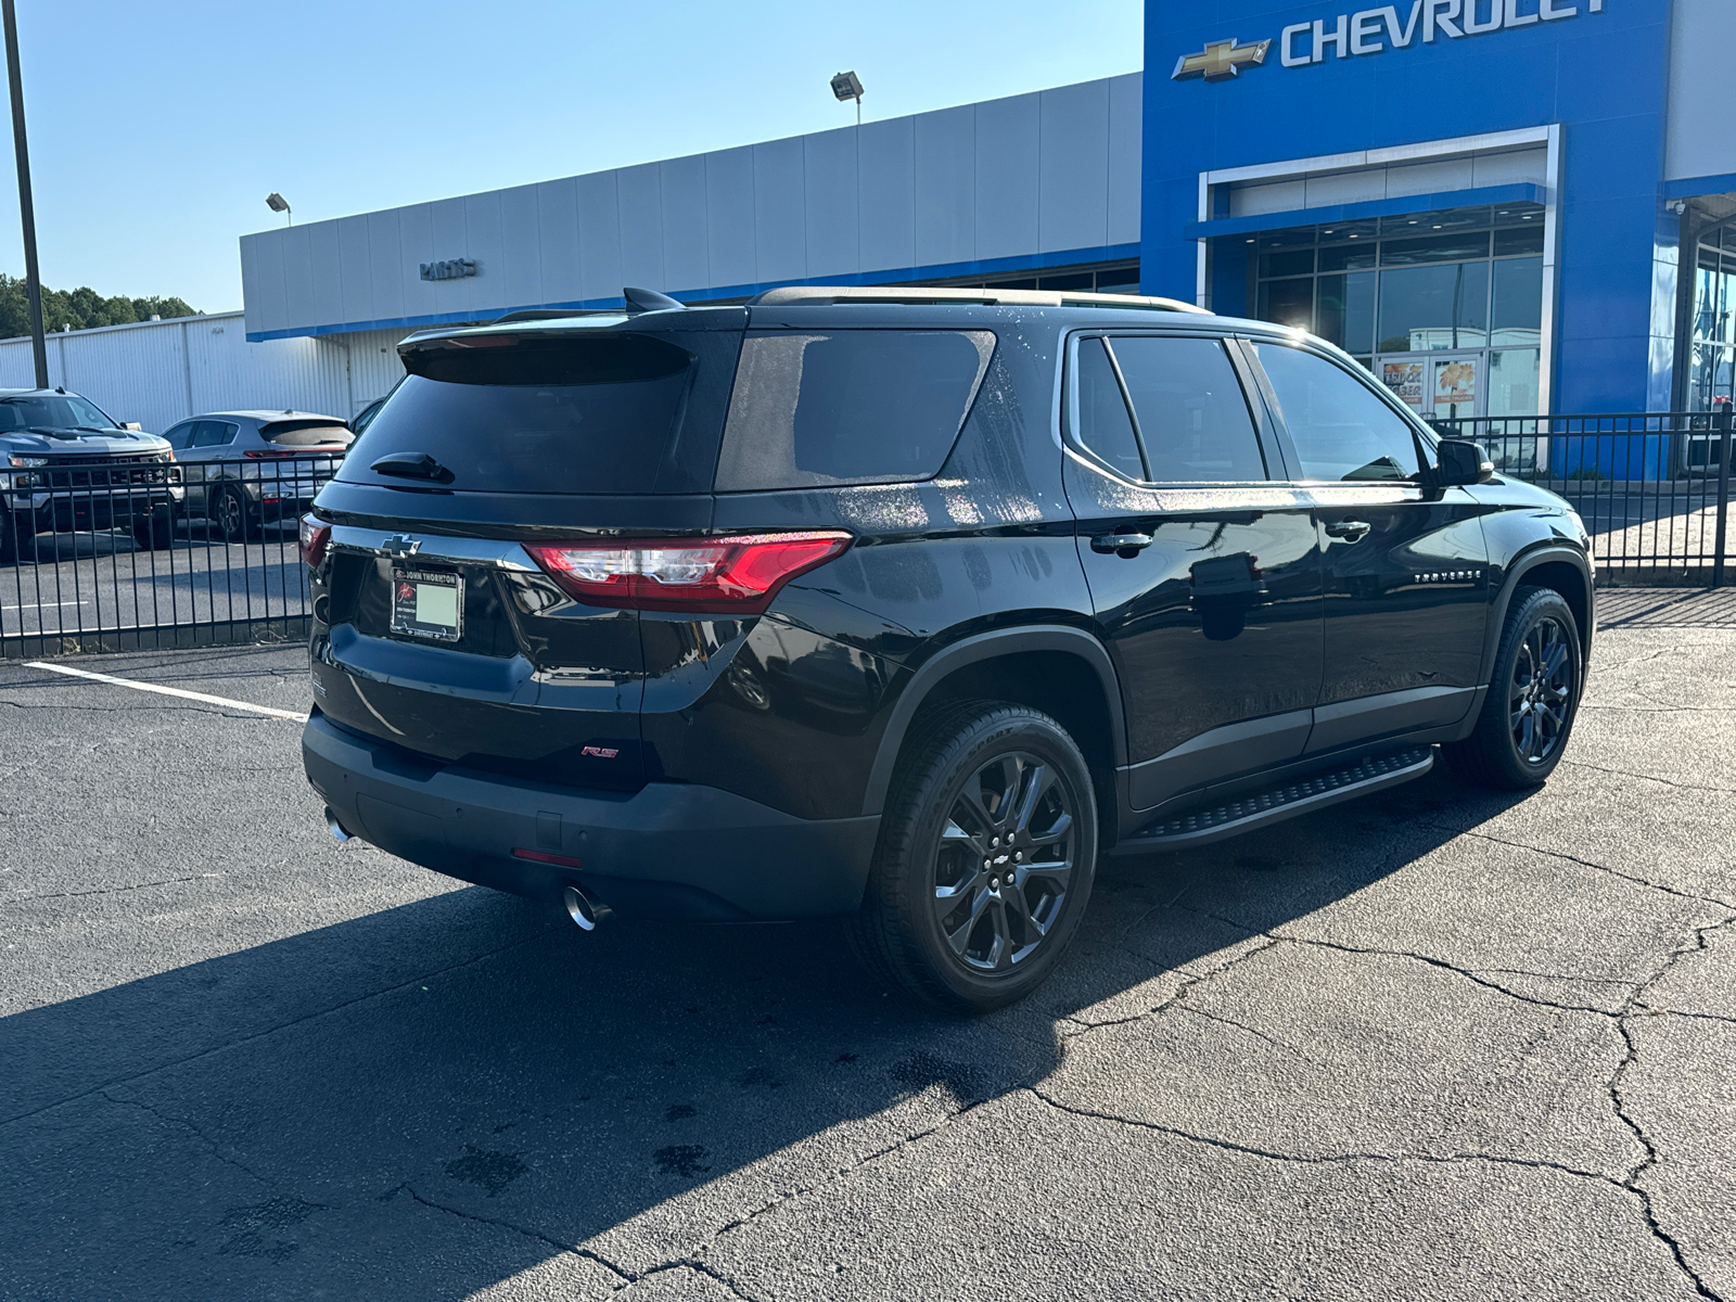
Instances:
[[[1075,797],[1036,755],[998,755],[953,799],[934,859],[941,941],[977,974],[1010,972],[1054,934],[1073,882]]]

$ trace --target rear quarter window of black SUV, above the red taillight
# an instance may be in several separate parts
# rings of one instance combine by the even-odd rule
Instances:
[[[995,351],[988,330],[750,335],[717,491],[927,479]]]

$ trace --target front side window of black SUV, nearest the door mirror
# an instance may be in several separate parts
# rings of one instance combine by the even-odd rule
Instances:
[[[1304,479],[1410,479],[1418,472],[1410,425],[1356,377],[1312,352],[1257,347]]]

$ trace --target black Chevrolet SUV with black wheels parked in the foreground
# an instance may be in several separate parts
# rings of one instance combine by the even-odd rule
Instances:
[[[1109,295],[628,304],[399,345],[304,523],[335,835],[583,927],[847,915],[990,1009],[1099,854],[1436,746],[1500,786],[1561,759],[1578,516],[1316,339]]]

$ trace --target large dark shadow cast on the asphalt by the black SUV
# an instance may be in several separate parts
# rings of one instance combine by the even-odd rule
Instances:
[[[1430,776],[1106,861],[1055,979],[977,1021],[873,988],[830,925],[585,936],[476,887],[21,1012],[0,1293],[464,1299],[609,1231],[646,1243],[675,1198],[661,1233],[691,1243],[1045,1078],[1066,1019],[1146,1012],[1163,990],[1127,991],[1245,939],[1226,913],[1279,925],[1509,804]]]

